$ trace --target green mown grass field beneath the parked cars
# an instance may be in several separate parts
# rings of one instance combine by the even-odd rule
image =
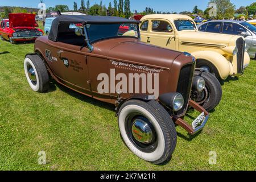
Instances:
[[[0,42],[1,170],[256,169],[256,61],[240,78],[224,82],[222,101],[199,135],[176,127],[171,161],[156,166],[122,142],[114,106],[58,84],[47,93],[33,92],[23,71],[33,47]],[[38,164],[39,151],[46,152],[46,165]],[[216,165],[209,164],[209,151],[216,152]]]

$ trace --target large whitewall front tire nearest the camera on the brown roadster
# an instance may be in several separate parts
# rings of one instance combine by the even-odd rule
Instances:
[[[135,136],[138,131],[141,131],[141,135],[138,134],[137,137],[143,136],[143,131],[136,131],[136,128],[134,131],[134,127],[131,127],[136,126],[137,119],[143,118],[146,118],[144,121],[150,126],[152,138],[155,139],[146,144],[141,143]],[[158,102],[126,101],[118,112],[118,125],[123,141],[139,158],[154,164],[163,164],[171,159],[176,147],[177,133],[170,115]]]

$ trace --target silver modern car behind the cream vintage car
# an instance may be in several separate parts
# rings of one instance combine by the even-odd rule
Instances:
[[[198,26],[199,31],[245,37],[246,49],[252,59],[256,59],[256,27],[236,20],[212,20]]]

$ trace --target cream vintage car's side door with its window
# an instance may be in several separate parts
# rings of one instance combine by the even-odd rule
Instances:
[[[147,43],[175,49],[175,30],[172,24],[164,19],[152,19],[150,24],[150,36]]]

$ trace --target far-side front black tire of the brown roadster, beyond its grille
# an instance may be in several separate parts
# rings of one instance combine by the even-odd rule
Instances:
[[[196,71],[195,76],[201,76],[205,80],[205,88],[200,93],[197,93],[195,101],[204,107],[205,110],[210,111],[214,109],[221,101],[222,88],[217,78],[209,72]],[[195,92],[195,91],[194,91]]]

